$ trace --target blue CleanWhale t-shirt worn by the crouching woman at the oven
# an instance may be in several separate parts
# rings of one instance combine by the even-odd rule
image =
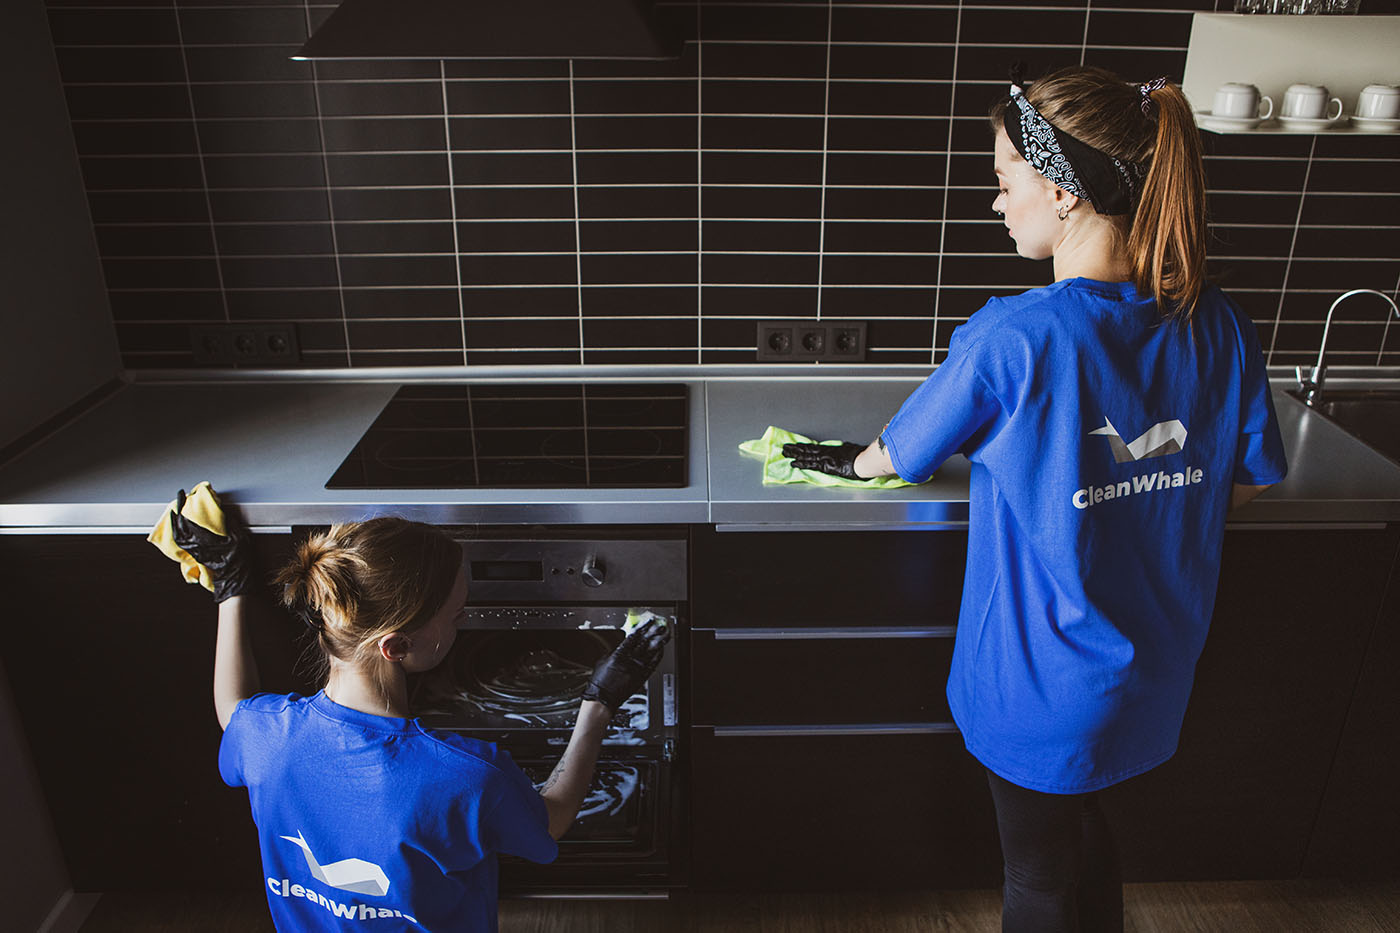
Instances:
[[[325,692],[239,703],[218,770],[248,787],[279,930],[496,930],[497,853],[559,852],[508,752]]]

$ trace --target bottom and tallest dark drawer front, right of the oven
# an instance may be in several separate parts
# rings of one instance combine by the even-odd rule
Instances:
[[[956,733],[692,730],[697,890],[994,887],[986,772]]]

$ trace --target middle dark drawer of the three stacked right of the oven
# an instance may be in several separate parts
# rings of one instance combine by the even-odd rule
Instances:
[[[953,629],[692,633],[692,719],[704,726],[945,723]]]

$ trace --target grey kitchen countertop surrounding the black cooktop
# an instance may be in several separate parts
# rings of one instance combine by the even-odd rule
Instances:
[[[176,489],[210,481],[258,528],[395,513],[454,524],[718,524],[727,528],[937,527],[967,520],[969,464],[923,486],[865,490],[764,486],[741,441],[777,424],[868,440],[927,367],[729,370],[573,367],[316,374],[165,374],[125,385],[0,468],[0,531],[150,528]],[[690,476],[682,489],[326,489],[325,481],[406,381],[680,381],[690,387]],[[1232,523],[1400,520],[1400,466],[1282,394],[1275,405],[1288,479]]]

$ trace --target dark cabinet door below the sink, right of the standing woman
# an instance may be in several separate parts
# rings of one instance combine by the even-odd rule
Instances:
[[[1105,793],[1130,881],[1298,877],[1393,552],[1386,530],[1226,532],[1180,748]]]

